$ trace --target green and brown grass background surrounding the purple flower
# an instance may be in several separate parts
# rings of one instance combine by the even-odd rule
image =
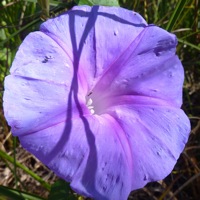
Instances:
[[[15,53],[31,31],[76,4],[120,5],[178,37],[177,54],[185,69],[183,109],[192,131],[172,173],[163,181],[133,191],[134,200],[200,199],[200,1],[199,0],[1,0],[0,1],[0,200],[84,199],[22,149],[3,116],[4,77]],[[14,101],[14,100],[13,100]],[[53,186],[51,186],[53,184]]]

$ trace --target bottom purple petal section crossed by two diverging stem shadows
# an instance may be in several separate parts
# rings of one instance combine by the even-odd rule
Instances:
[[[109,115],[88,116],[21,136],[24,148],[79,194],[97,200],[126,200],[132,159],[125,135]]]

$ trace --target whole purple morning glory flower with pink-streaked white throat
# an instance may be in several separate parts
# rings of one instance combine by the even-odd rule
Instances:
[[[80,6],[29,34],[5,79],[14,136],[78,193],[125,200],[166,177],[190,132],[173,34]]]

